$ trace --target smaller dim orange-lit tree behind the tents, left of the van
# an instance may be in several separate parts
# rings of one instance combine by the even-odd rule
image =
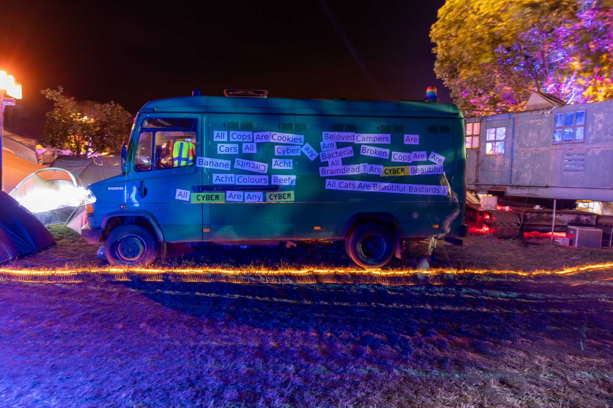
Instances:
[[[57,91],[40,91],[54,102],[40,144],[70,150],[74,155],[118,152],[129,137],[132,114],[113,101],[78,101],[62,95],[63,91],[61,86]]]

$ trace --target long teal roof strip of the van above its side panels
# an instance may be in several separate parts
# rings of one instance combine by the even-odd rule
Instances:
[[[243,113],[316,116],[463,117],[454,103],[185,96],[152,100],[140,113]]]

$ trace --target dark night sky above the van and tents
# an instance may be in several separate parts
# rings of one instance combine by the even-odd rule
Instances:
[[[132,113],[192,89],[398,100],[435,85],[449,102],[428,37],[443,3],[5,1],[0,70],[23,84],[26,104],[50,105],[40,89],[63,86]]]

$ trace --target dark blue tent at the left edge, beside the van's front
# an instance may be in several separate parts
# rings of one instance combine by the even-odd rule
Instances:
[[[55,243],[39,220],[0,191],[0,263],[34,253]]]

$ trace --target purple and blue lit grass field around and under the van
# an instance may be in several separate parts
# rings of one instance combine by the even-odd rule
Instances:
[[[7,266],[105,265],[97,247],[51,231],[57,247]],[[534,241],[439,241],[433,265],[450,272],[438,284],[0,281],[0,406],[611,407],[611,269],[467,272],[612,258]],[[390,268],[416,267],[424,249]],[[252,263],[356,268],[342,253],[267,247],[167,266]]]

